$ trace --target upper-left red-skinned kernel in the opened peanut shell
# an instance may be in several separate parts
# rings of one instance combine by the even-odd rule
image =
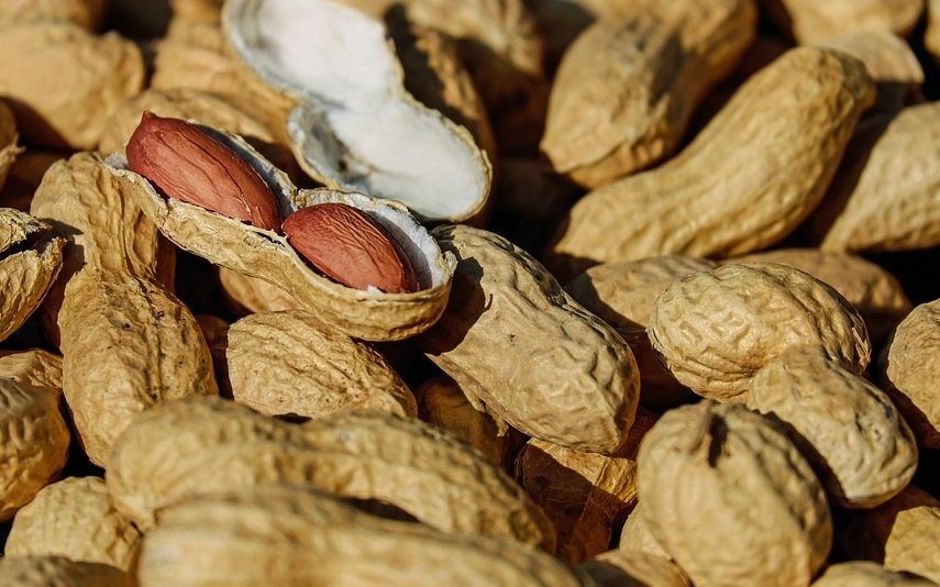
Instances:
[[[125,148],[128,167],[167,198],[277,231],[270,188],[237,153],[184,120],[144,112]]]

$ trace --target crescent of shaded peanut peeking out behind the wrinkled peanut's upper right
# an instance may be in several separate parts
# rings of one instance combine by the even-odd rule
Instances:
[[[818,248],[781,248],[731,259],[778,263],[806,272],[842,295],[865,320],[872,340],[881,340],[910,312],[911,303],[888,272],[850,253]]]

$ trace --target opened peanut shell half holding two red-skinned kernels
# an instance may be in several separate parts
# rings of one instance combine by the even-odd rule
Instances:
[[[119,156],[110,159],[114,176],[134,193],[145,213],[170,241],[213,264],[281,287],[300,307],[354,337],[405,339],[430,328],[443,312],[450,294],[453,257],[442,254],[431,235],[400,206],[329,189],[298,191],[284,173],[241,139],[191,124],[176,124],[175,129],[174,133],[152,143],[166,157],[159,174],[170,182],[164,185],[162,192],[145,177],[125,169],[128,163]],[[195,148],[190,144],[193,140],[211,145],[212,155],[203,156],[204,165],[189,158]],[[237,160],[230,163],[232,157]],[[185,186],[173,182],[177,180],[173,174],[175,165],[188,166]],[[253,175],[251,181],[233,181],[231,165],[241,169],[243,177]],[[141,170],[154,175],[147,166]],[[217,188],[219,179],[222,181]],[[190,203],[193,201],[196,203]],[[361,232],[345,229],[338,222],[330,222],[327,233],[318,225],[303,223],[295,226],[297,230],[290,229],[291,213],[317,204],[344,204],[356,209],[357,214],[368,217],[371,225],[378,225],[375,230],[384,235],[385,244],[374,237],[362,239]],[[226,215],[230,213],[254,225]],[[286,235],[276,232],[279,226],[275,230],[263,228],[274,224],[275,215],[286,219]],[[378,265],[369,261],[374,259],[379,245],[386,251],[397,245],[396,254],[407,257],[402,263],[410,263],[419,289],[386,294],[376,287],[355,289],[321,276],[291,246],[305,237],[324,243],[334,239],[333,254],[339,255],[338,248],[357,251],[357,255],[368,261],[367,266],[378,269],[390,258],[383,253]],[[339,261],[339,257],[333,258]],[[323,266],[322,258],[309,261],[319,265],[322,273],[328,273],[329,267]],[[341,266],[350,270],[347,265]]]

